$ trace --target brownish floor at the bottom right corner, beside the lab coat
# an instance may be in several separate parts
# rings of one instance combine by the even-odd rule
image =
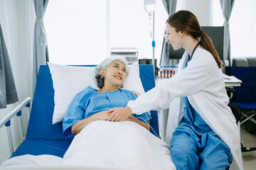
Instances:
[[[241,139],[245,147],[256,147],[256,134],[250,134],[241,128]],[[242,152],[244,170],[256,169],[256,151]]]

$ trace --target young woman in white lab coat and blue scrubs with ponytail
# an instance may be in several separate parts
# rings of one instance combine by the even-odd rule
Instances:
[[[171,115],[177,124],[171,138],[176,169],[242,169],[240,132],[228,107],[213,43],[190,11],[178,11],[168,18],[166,42],[174,50],[186,50],[178,73],[129,101],[125,108],[112,108],[108,120],[123,121],[132,113],[169,108],[179,98],[180,109]]]

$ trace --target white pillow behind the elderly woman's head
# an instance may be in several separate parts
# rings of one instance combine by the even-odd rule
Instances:
[[[65,112],[76,94],[92,86],[99,89],[95,79],[95,67],[75,67],[48,62],[53,79],[54,111],[53,124],[63,121]],[[139,78],[138,62],[129,65],[129,76],[124,81],[124,88],[129,91],[144,93],[142,81]]]

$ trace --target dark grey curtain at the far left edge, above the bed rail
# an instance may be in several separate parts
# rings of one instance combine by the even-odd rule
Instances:
[[[9,54],[0,24],[0,108],[18,101]]]

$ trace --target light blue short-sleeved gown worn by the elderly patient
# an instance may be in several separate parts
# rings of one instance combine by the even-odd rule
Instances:
[[[135,100],[137,96],[132,91],[119,89],[98,93],[91,86],[88,86],[84,91],[81,91],[75,96],[65,114],[63,120],[63,135],[74,136],[71,132],[71,127],[79,120],[85,119],[102,111],[108,111],[110,108],[123,108],[127,106],[128,101]],[[149,121],[151,116],[149,113],[142,115],[132,114],[135,118],[142,122]],[[140,118],[143,119],[140,119]]]

